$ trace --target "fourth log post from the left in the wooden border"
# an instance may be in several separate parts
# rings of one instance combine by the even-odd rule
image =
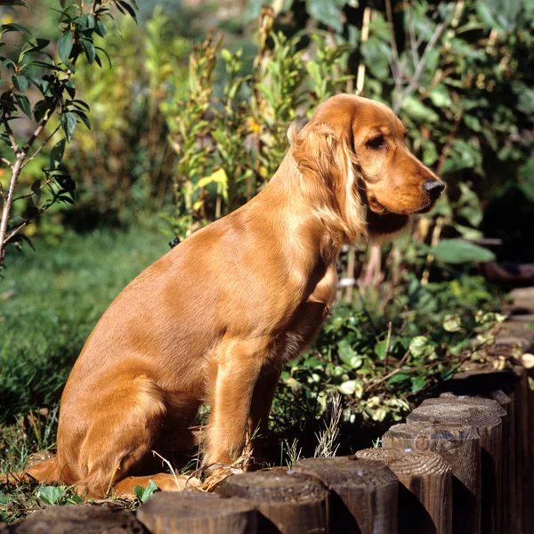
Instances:
[[[330,532],[396,534],[399,482],[380,462],[354,457],[310,458],[295,465],[332,491]]]

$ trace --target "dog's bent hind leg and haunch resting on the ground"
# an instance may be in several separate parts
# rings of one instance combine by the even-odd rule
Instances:
[[[69,399],[65,403],[58,434],[58,462],[65,466],[61,479],[88,497],[105,496],[112,487],[128,493],[146,478],[134,475],[151,471],[147,464],[166,419],[166,394],[149,377],[138,375],[122,376],[120,384],[107,384],[94,398],[84,411]],[[83,413],[90,417],[84,420]],[[165,489],[176,487],[174,475],[149,478]]]

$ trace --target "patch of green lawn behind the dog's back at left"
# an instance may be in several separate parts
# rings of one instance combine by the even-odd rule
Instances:
[[[125,285],[168,251],[157,230],[68,234],[11,252],[0,280],[0,415],[53,406],[85,339]]]

